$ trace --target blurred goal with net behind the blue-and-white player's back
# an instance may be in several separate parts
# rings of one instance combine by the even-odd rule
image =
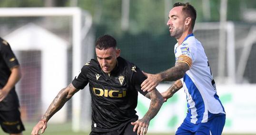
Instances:
[[[236,28],[236,30],[235,30]],[[220,32],[224,34],[221,36]],[[204,46],[214,78],[218,83],[256,83],[254,75],[256,27],[226,22],[197,23],[196,38]],[[223,43],[220,42],[223,38]]]

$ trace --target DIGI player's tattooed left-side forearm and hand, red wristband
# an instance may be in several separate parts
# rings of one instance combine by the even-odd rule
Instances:
[[[78,90],[73,86],[72,83],[69,84],[68,87],[62,89],[59,91],[59,94],[53,99],[52,103],[50,104],[49,108],[43,115],[43,117],[40,119],[38,124],[34,126],[31,135],[39,135],[39,130],[41,130],[41,133],[44,133],[47,122],[49,119],[59,111],[60,108],[64,106],[64,104],[71,99],[71,97],[77,92]]]

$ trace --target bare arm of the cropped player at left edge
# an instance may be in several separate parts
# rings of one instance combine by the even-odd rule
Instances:
[[[8,95],[10,90],[15,86],[15,84],[20,80],[21,78],[21,72],[20,72],[20,66],[15,66],[12,69],[10,69],[10,77],[6,83],[6,85],[0,89],[0,102]]]

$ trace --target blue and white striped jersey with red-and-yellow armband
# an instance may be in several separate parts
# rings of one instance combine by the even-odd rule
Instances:
[[[185,120],[193,124],[205,123],[215,116],[226,114],[201,43],[190,34],[181,45],[175,45],[174,51],[176,62],[187,63],[190,67],[180,79],[187,95]]]

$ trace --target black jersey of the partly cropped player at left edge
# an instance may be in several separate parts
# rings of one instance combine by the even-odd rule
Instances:
[[[11,73],[10,69],[18,65],[19,62],[13,54],[10,45],[0,38],[0,89],[7,83]],[[17,107],[19,107],[19,99],[14,87],[5,99],[0,102],[0,110],[11,110]]]

